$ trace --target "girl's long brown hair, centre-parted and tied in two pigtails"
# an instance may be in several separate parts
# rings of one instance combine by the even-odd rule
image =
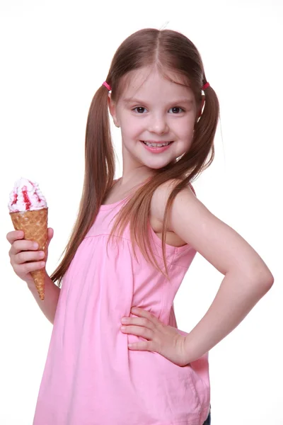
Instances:
[[[166,70],[183,77],[190,86],[197,106],[202,99],[202,86],[207,83],[200,53],[185,35],[173,30],[147,28],[130,35],[117,49],[105,81],[111,86],[112,101],[117,101],[122,91],[121,79],[135,69],[156,65],[160,72]],[[214,159],[214,135],[219,118],[219,102],[214,89],[205,90],[202,115],[195,123],[192,145],[182,157],[159,169],[146,184],[129,198],[117,215],[112,233],[122,234],[129,224],[133,245],[137,244],[146,259],[157,266],[149,239],[149,210],[156,188],[166,181],[175,181],[168,198],[163,220],[162,249],[165,271],[166,228],[168,212],[175,196],[187,187]],[[112,187],[115,176],[115,155],[110,133],[108,89],[100,86],[91,101],[86,125],[85,176],[79,214],[64,250],[64,258],[52,274],[52,280],[62,281],[76,250],[94,220]]]

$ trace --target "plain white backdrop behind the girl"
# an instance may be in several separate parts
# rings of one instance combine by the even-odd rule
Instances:
[[[40,184],[54,228],[52,273],[79,207],[93,94],[122,40],[163,26],[197,45],[219,96],[216,158],[195,182],[197,196],[275,276],[272,290],[210,353],[212,425],[283,424],[282,20],[281,0],[0,0],[1,425],[33,423],[52,331],[9,263],[8,195],[21,176]],[[113,136],[120,176],[115,128]],[[201,319],[221,279],[196,256],[175,299],[180,329]]]

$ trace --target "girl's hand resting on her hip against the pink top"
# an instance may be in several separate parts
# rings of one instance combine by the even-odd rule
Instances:
[[[138,317],[122,317],[121,331],[142,336],[147,341],[129,344],[130,350],[155,351],[178,366],[189,363],[185,352],[185,336],[180,335],[177,329],[163,324],[153,314],[139,307],[132,307],[131,313]]]

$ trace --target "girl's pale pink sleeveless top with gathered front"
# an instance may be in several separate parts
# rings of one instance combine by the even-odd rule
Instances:
[[[209,413],[208,356],[180,367],[158,353],[129,351],[122,334],[132,306],[177,327],[173,300],[194,259],[166,245],[170,281],[138,248],[129,228],[108,243],[123,203],[102,205],[64,276],[33,425],[202,425]],[[151,242],[162,265],[161,240]]]

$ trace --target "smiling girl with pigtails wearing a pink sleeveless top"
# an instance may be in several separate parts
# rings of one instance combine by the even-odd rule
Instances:
[[[116,181],[108,111],[122,135]],[[184,35],[145,29],[122,42],[91,103],[79,216],[46,275],[45,302],[30,271],[47,259],[23,232],[7,235],[14,271],[54,322],[34,425],[210,423],[207,353],[273,283],[260,256],[192,189],[212,163],[218,118]],[[197,251],[224,279],[185,334],[173,299]]]

